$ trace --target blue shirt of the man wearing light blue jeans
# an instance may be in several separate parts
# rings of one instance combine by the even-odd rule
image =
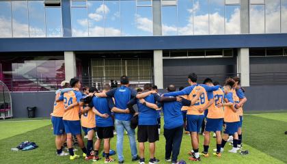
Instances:
[[[124,110],[127,108],[128,101],[137,96],[137,91],[122,85],[118,88],[110,90],[106,94],[109,97],[115,98],[115,107]],[[129,113],[115,113],[114,115],[115,119],[122,121],[130,121],[132,118],[132,115]]]

